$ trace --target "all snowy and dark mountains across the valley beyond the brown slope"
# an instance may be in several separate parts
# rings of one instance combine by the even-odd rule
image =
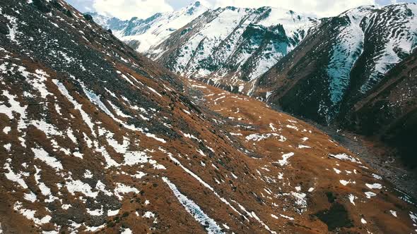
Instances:
[[[185,18],[195,6],[168,15]],[[371,151],[383,152],[382,161],[399,155],[416,168],[416,14],[411,3],[361,6],[319,19],[271,7],[207,9],[139,51],[187,78],[359,134]],[[158,16],[134,25],[160,25],[153,21]],[[132,46],[131,36],[115,35]]]

